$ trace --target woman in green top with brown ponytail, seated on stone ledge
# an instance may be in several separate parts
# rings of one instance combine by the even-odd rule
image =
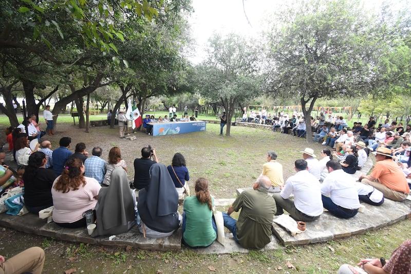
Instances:
[[[182,242],[190,247],[207,247],[217,238],[213,218],[214,199],[209,192],[209,181],[198,178],[195,191],[195,196],[184,199]]]

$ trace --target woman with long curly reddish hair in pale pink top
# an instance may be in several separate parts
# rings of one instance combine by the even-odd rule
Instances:
[[[96,207],[101,186],[95,178],[85,177],[84,170],[81,159],[70,158],[53,182],[53,221],[61,227],[85,227],[83,212]]]

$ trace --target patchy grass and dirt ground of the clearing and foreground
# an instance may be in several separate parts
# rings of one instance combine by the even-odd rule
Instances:
[[[170,165],[174,153],[184,155],[190,172],[189,185],[198,177],[210,181],[210,192],[217,198],[233,198],[235,190],[249,187],[261,173],[267,151],[274,150],[283,164],[284,178],[293,172],[293,162],[301,158],[305,140],[267,130],[233,126],[231,137],[219,136],[218,124],[207,124],[206,132],[174,136],[148,136],[138,132],[137,139],[120,139],[118,129],[108,126],[91,127],[90,133],[70,123],[60,123],[56,135],[43,137],[58,147],[63,136],[72,138],[71,150],[84,142],[87,151],[99,146],[103,158],[113,146],[121,149],[128,167],[128,177],[134,177],[133,161],[141,157],[141,148],[151,144],[160,162]],[[317,155],[321,145],[311,144]],[[411,221],[363,235],[322,244],[282,248],[248,254],[199,255],[191,249],[182,252],[155,252],[134,248],[89,246],[55,241],[36,235],[0,228],[0,254],[7,258],[30,246],[46,251],[44,273],[335,273],[342,263],[355,263],[360,258],[385,257],[405,239],[411,237]]]

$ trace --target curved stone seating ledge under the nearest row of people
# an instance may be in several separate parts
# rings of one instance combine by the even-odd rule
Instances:
[[[369,159],[366,166],[354,177],[358,178],[361,173],[368,173],[372,167],[372,161]],[[238,189],[241,192],[244,189]],[[228,206],[233,203],[234,199],[215,199],[216,206]],[[411,217],[411,200],[404,202],[394,202],[385,199],[382,206],[376,207],[362,203],[365,206],[364,212],[359,212],[349,220],[340,219],[324,212],[321,217],[311,223],[307,223],[307,230],[303,233],[292,236],[282,227],[273,224],[272,241],[263,250],[279,249],[282,245],[306,245],[317,242],[325,242],[334,238],[343,238],[353,234],[363,233],[365,231],[376,230],[380,227],[388,226]],[[15,229],[18,231],[37,234],[45,237],[54,237],[58,240],[109,245],[109,246],[132,246],[139,249],[150,249],[159,251],[179,251],[181,250],[181,228],[168,238],[150,239],[144,238],[139,232],[137,226],[134,226],[126,233],[116,235],[112,240],[110,235],[98,236],[91,238],[85,228],[68,229],[61,228],[55,223],[47,224],[47,220],[42,220],[38,215],[28,213],[24,216],[11,216],[6,213],[0,214],[0,226]],[[249,252],[242,248],[233,240],[231,233],[226,233],[225,246],[215,241],[207,248],[194,249],[198,253],[231,253],[231,252]]]

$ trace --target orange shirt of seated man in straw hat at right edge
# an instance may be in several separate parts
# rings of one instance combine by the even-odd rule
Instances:
[[[394,191],[409,193],[409,187],[400,167],[391,159],[378,161],[371,172],[381,184]]]

